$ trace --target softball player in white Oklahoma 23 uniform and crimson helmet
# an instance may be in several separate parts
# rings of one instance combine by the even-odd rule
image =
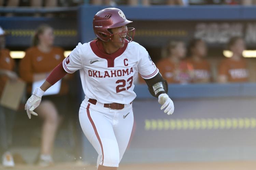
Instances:
[[[117,8],[99,11],[93,19],[97,37],[79,43],[37,87],[28,99],[28,117],[37,116],[34,109],[44,92],[67,73],[80,70],[85,99],[79,111],[83,132],[98,152],[98,170],[116,170],[129,142],[133,125],[133,77],[141,74],[150,93],[158,98],[168,115],[174,111],[168,97],[168,85],[144,47],[132,41],[135,29]]]

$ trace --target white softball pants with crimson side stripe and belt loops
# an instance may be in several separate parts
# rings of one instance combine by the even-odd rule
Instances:
[[[121,110],[103,107],[84,100],[79,111],[82,130],[99,154],[99,165],[118,167],[127,148],[132,126],[132,104],[127,104]]]

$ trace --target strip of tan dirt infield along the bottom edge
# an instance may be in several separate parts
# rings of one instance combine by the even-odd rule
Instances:
[[[206,162],[206,163],[169,163],[169,164],[133,164],[120,165],[118,170],[255,170],[256,162]],[[95,166],[57,164],[52,167],[17,165],[7,170],[96,170]],[[0,166],[0,170],[5,168]]]

